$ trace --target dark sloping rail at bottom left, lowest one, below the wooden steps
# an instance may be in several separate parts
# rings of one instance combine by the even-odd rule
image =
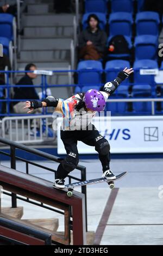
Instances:
[[[45,233],[44,231],[28,227],[26,224],[18,223],[16,220],[8,220],[4,215],[0,214],[0,225],[10,229],[19,231],[20,233],[26,233],[30,236],[35,236],[38,239],[44,240],[45,245],[51,245],[52,236],[51,234]],[[1,230],[1,229],[0,229]]]

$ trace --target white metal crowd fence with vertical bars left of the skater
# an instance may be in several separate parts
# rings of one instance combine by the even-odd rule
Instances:
[[[30,129],[31,122],[33,133]],[[5,117],[2,119],[2,138],[9,138],[18,143],[54,141],[55,132],[49,129],[49,124],[52,124],[52,115]]]

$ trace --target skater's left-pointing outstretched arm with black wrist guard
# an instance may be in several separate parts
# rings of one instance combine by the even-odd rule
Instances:
[[[62,99],[57,99],[53,96],[48,96],[46,99],[40,101],[40,100],[30,100],[26,101],[26,107],[30,110],[27,113],[31,113],[36,108],[42,108],[42,107],[54,107],[58,108],[58,112],[60,112],[60,105],[61,105]]]

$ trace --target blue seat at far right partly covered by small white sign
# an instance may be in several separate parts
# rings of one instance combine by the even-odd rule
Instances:
[[[144,83],[154,86],[154,75],[140,75],[140,69],[158,69],[156,60],[142,59],[134,62],[134,83]]]

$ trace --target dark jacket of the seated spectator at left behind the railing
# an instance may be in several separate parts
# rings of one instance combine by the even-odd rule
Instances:
[[[24,87],[15,87],[14,88],[14,99],[21,100],[39,100],[39,96],[36,93],[34,87],[25,87],[25,86],[33,86],[32,78],[28,75],[25,75],[21,78],[16,85],[24,86]],[[18,102],[14,102],[16,104]]]

